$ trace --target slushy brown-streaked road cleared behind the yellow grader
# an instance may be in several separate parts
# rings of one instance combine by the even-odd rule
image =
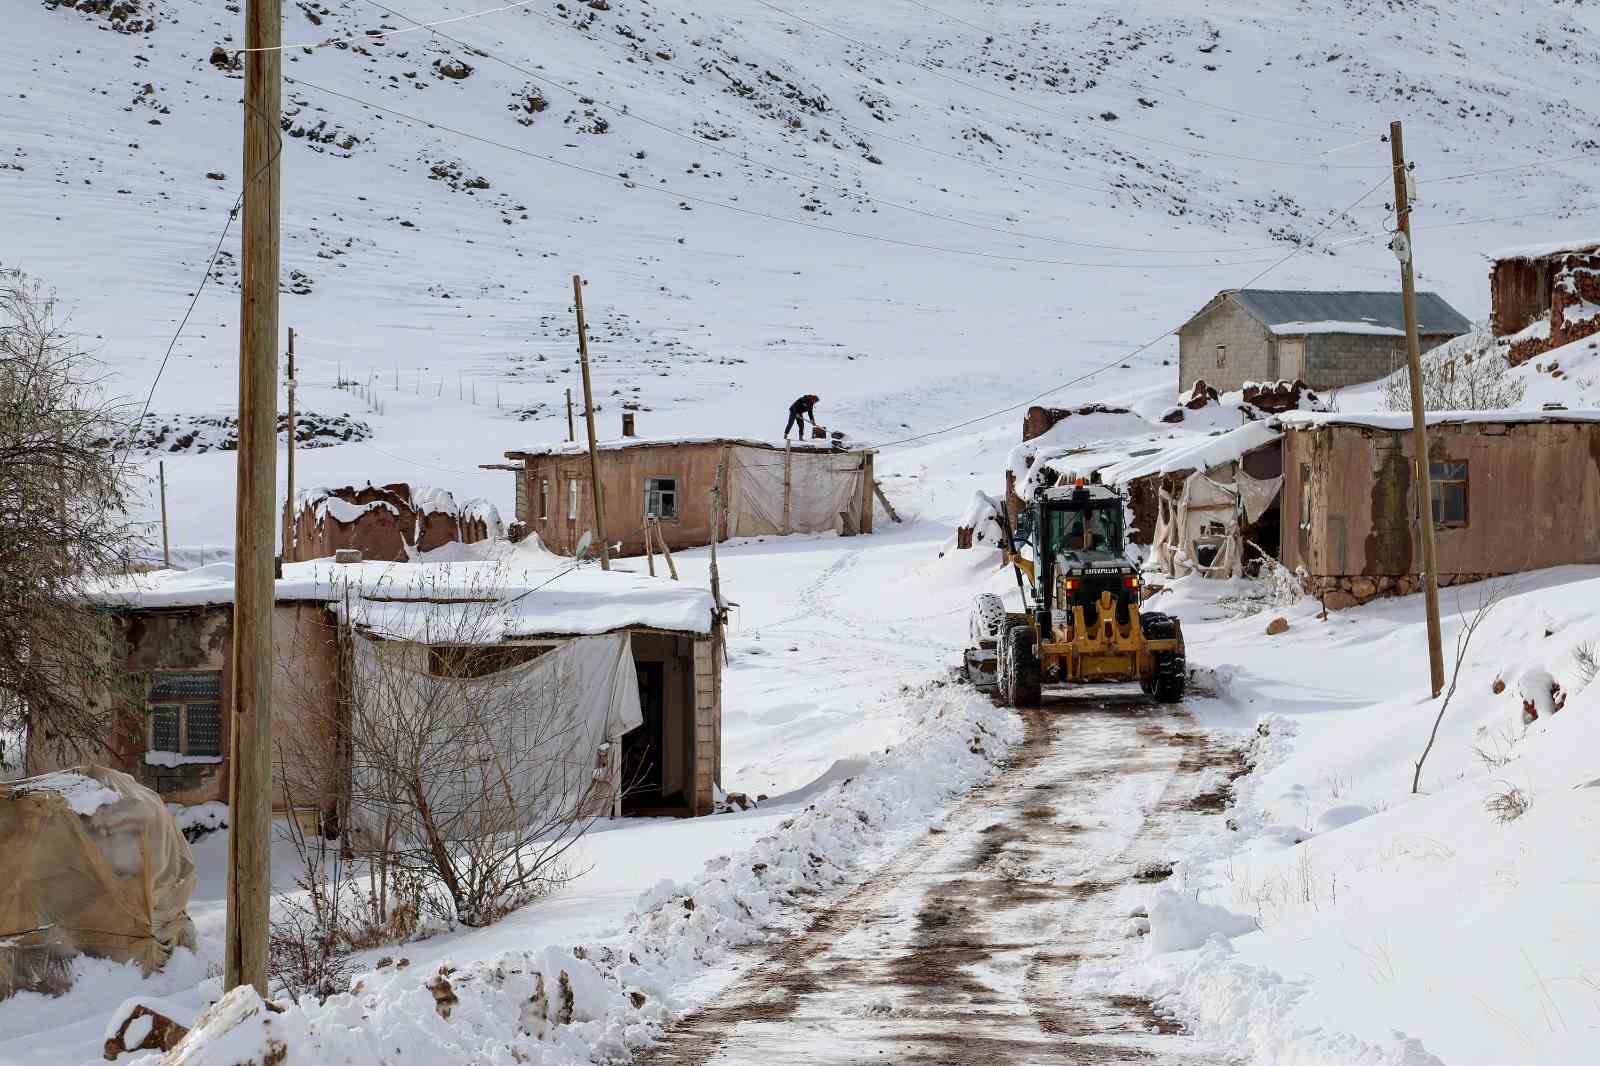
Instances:
[[[992,784],[637,1061],[1221,1061],[1088,968],[1142,951],[1128,917],[1166,840],[1222,808],[1200,770],[1238,757],[1136,693],[1048,699],[1026,723]]]

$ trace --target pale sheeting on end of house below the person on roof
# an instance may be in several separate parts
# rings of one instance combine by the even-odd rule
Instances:
[[[728,536],[827,533],[840,528],[840,512],[861,528],[861,455],[842,451],[776,451],[731,448],[734,485],[728,504]],[[789,463],[789,507],[784,507],[784,461]]]

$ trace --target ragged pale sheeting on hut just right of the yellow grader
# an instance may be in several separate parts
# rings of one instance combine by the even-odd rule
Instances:
[[[1256,479],[1227,463],[1190,474],[1176,498],[1162,490],[1152,551],[1171,576],[1237,578],[1245,565],[1245,527],[1278,498],[1282,477]],[[1211,559],[1200,562],[1203,549]]]

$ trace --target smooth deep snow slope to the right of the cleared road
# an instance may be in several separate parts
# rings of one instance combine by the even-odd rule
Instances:
[[[1262,642],[1259,619],[1206,615],[1179,584],[1163,610],[1230,674],[1190,706],[1250,736],[1254,770],[1226,818],[1176,842],[1184,896],[1152,900],[1158,951],[1128,989],[1259,1066],[1595,1061],[1581,840],[1600,820],[1600,685],[1582,655],[1600,642],[1600,568],[1443,592],[1446,648],[1485,597],[1504,599],[1467,648],[1418,795],[1438,711],[1419,597],[1326,618],[1298,603]]]

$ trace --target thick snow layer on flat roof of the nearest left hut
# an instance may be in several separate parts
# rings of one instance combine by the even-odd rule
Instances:
[[[427,619],[435,631],[453,632],[464,611],[482,616],[485,643],[638,626],[702,634],[712,624],[712,595],[706,589],[621,567],[576,567],[531,538],[522,544],[445,544],[422,562],[283,563],[275,597],[280,603],[322,602],[342,611],[346,589],[358,627],[403,639],[414,637]],[[496,607],[485,608],[486,597]],[[130,575],[101,584],[90,600],[128,610],[232,603],[234,565]]]

